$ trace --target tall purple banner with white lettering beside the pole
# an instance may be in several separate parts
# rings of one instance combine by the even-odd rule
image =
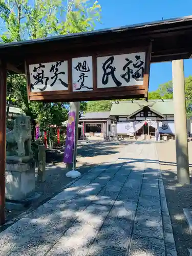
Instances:
[[[66,138],[66,149],[64,153],[64,163],[73,162],[73,147],[75,138],[75,112],[69,113],[68,125],[67,125],[67,138]]]

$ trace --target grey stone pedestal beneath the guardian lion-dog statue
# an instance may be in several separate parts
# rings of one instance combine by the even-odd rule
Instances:
[[[35,190],[35,162],[6,162],[6,199],[22,201]]]

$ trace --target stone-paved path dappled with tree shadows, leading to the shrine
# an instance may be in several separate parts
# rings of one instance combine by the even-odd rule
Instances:
[[[132,143],[0,233],[0,256],[175,256],[154,143]]]

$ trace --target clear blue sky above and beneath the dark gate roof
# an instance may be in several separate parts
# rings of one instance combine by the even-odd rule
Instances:
[[[113,28],[155,20],[192,15],[191,0],[98,0],[102,7],[102,24],[96,29]],[[192,75],[192,59],[184,60],[185,77]],[[154,63],[150,72],[150,91],[172,80],[171,62]]]

